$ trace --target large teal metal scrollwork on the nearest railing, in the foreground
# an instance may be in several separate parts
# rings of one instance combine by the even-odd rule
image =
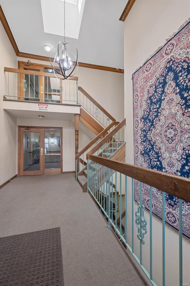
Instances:
[[[138,206],[138,210],[137,212],[135,212],[135,218],[136,218],[135,224],[138,229],[137,238],[140,240],[142,244],[145,244],[144,236],[147,233],[147,229],[146,229],[147,220],[144,217],[145,206],[143,204],[140,204],[140,202],[137,202],[137,206]]]

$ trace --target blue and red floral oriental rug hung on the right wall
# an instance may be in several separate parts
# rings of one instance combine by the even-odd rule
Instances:
[[[190,178],[190,22],[133,74],[134,164]],[[149,187],[143,184],[149,210]],[[139,185],[135,183],[136,201]],[[162,219],[162,192],[153,189]],[[178,230],[178,199],[166,194],[165,220]],[[183,201],[183,234],[190,239],[190,204]]]

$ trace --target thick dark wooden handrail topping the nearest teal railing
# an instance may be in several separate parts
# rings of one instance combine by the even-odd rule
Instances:
[[[127,163],[121,163],[115,160],[90,155],[89,153],[86,157],[87,159],[90,159],[107,168],[120,172],[134,178],[137,181],[145,183],[190,203],[190,179]]]

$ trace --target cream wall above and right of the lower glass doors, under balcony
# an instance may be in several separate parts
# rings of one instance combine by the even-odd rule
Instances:
[[[62,127],[63,172],[75,170],[75,125],[72,121],[17,118],[17,126],[21,125]]]

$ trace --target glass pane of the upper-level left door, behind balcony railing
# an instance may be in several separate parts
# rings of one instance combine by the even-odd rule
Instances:
[[[27,71],[38,71],[36,69],[26,69]],[[24,74],[24,97],[25,100],[39,101],[39,75]]]

